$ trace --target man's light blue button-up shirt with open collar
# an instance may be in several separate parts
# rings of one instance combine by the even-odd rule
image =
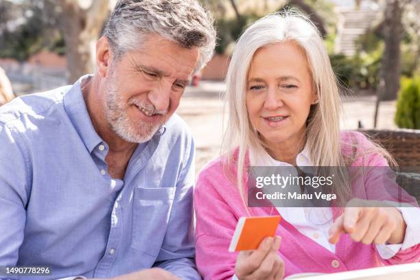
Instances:
[[[80,89],[0,108],[0,265],[114,277],[150,267],[200,279],[194,264],[194,142],[173,115],[113,179]],[[1,277],[0,279],[8,277]],[[19,277],[19,279],[32,279]]]

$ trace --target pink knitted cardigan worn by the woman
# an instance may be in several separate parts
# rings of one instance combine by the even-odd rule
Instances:
[[[359,132],[342,132],[342,143],[357,141],[358,150],[372,147]],[[343,153],[351,148],[342,145]],[[353,166],[383,166],[382,156],[360,157]],[[369,178],[367,178],[369,180]],[[374,180],[374,179],[372,179]],[[369,197],[369,194],[366,194]],[[367,198],[366,197],[366,198]],[[237,220],[247,216],[237,187],[224,175],[222,159],[211,161],[198,175],[194,204],[196,209],[196,261],[203,279],[231,279],[235,274],[237,253],[229,253]],[[333,209],[334,210],[334,209]],[[272,207],[253,208],[253,215],[279,215]],[[281,213],[280,213],[281,214]],[[420,261],[420,244],[400,250],[390,259],[382,259],[374,245],[353,242],[341,235],[336,253],[297,231],[292,224],[281,220],[277,235],[282,238],[279,254],[285,263],[285,276],[303,272],[342,272]]]

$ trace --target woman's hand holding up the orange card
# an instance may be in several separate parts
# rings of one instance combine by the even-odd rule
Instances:
[[[240,280],[281,280],[284,263],[279,256],[280,237],[266,237],[257,250],[242,251],[236,259],[235,275]]]

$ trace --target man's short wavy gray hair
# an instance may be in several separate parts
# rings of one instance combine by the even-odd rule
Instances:
[[[213,55],[213,18],[197,0],[119,0],[104,30],[115,58],[141,47],[141,40],[148,34],[188,49],[198,47],[196,71]]]

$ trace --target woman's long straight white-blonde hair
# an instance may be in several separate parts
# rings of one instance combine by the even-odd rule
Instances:
[[[252,150],[253,154],[265,152],[264,143],[251,126],[246,109],[248,69],[255,51],[259,48],[288,41],[297,43],[306,54],[312,74],[313,89],[319,100],[319,103],[313,105],[310,110],[305,139],[301,145],[306,145],[314,166],[347,165],[347,160],[340,152],[338,83],[318,30],[309,19],[294,10],[270,14],[250,25],[242,34],[235,45],[226,75],[225,101],[229,109],[229,119],[222,143],[222,154],[227,155],[224,157],[226,161],[224,167],[230,167],[232,164],[235,166],[236,176],[233,177],[236,177],[234,180],[244,205],[246,205],[244,194],[246,153],[249,150]],[[232,174],[226,169],[225,172]],[[338,180],[342,183],[348,182],[345,176],[341,174],[342,180]],[[334,191],[338,197],[344,198],[349,195],[349,187],[343,185]]]

